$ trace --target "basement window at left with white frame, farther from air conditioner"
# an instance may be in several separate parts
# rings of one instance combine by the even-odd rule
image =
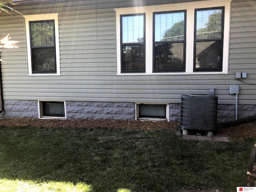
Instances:
[[[66,104],[64,101],[38,101],[39,118],[65,118]]]

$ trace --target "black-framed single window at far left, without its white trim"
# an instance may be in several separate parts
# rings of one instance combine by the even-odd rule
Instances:
[[[32,73],[56,73],[54,20],[30,21]]]

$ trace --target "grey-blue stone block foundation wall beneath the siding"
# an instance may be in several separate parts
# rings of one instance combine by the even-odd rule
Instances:
[[[180,121],[180,104],[169,105],[169,120]],[[235,105],[219,104],[217,122],[235,120]],[[135,120],[132,102],[77,102],[66,101],[68,119]],[[238,105],[238,119],[256,115],[256,105]],[[4,100],[0,118],[38,118],[37,100]]]

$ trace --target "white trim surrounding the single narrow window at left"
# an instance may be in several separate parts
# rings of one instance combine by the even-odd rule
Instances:
[[[59,42],[59,23],[58,23],[58,13],[52,14],[37,14],[37,15],[23,15],[25,18],[26,26],[26,43],[27,43],[27,54],[28,54],[28,75],[29,76],[60,76],[60,42]],[[45,73],[45,74],[33,74],[32,73],[32,62],[31,62],[31,47],[30,47],[30,21],[40,21],[40,20],[54,20],[55,24],[55,49],[56,49],[56,73]]]

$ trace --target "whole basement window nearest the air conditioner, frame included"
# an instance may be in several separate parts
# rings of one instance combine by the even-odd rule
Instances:
[[[136,103],[136,120],[169,121],[169,104]]]

